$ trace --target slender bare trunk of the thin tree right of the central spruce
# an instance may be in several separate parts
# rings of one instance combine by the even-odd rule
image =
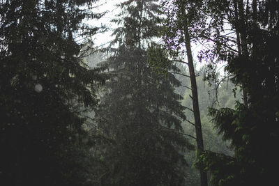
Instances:
[[[190,74],[190,82],[192,88],[192,101],[193,101],[193,111],[194,111],[194,118],[195,118],[195,130],[196,130],[196,141],[197,141],[197,156],[204,151],[204,140],[202,139],[202,123],[199,114],[199,99],[197,95],[197,82],[196,82],[196,75],[195,75],[195,68],[192,56],[192,49],[190,43],[190,34],[188,30],[188,21],[186,19],[186,10],[183,1],[181,1],[181,12],[183,13],[183,31],[184,31],[184,39],[186,44],[187,50],[187,58],[188,58],[188,68]],[[202,168],[199,170],[200,173],[200,180],[201,186],[207,186],[207,174]]]

